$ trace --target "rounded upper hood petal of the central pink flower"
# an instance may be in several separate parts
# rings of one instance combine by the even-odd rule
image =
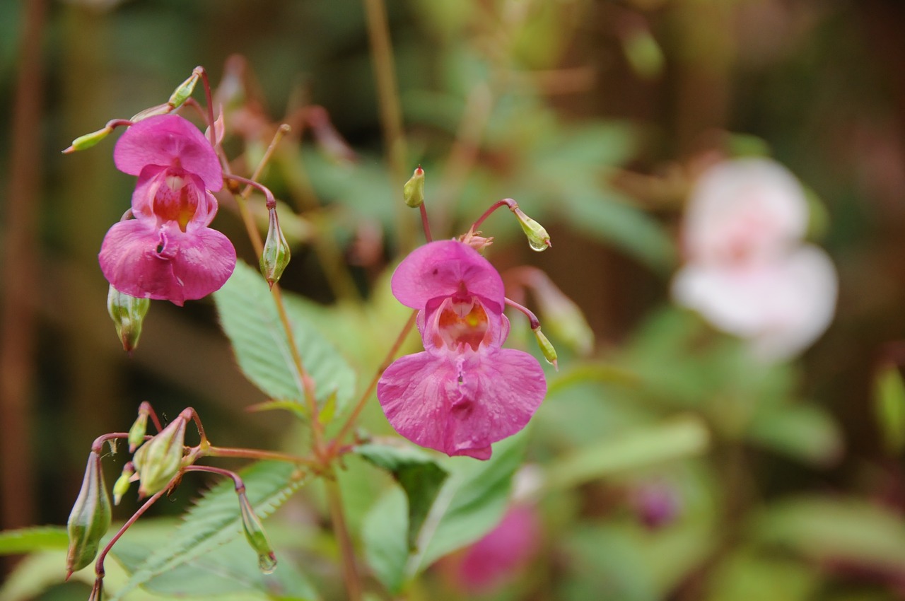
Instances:
[[[428,300],[452,296],[462,285],[499,315],[506,295],[500,273],[472,247],[455,240],[424,244],[399,263],[393,294],[406,307],[424,309]]]

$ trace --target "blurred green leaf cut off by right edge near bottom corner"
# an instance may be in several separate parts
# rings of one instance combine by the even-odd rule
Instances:
[[[795,549],[806,558],[896,573],[905,570],[905,520],[868,501],[819,497],[784,501],[760,516],[753,532],[762,544]]]

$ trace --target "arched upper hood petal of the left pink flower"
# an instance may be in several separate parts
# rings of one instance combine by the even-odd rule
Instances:
[[[129,127],[113,148],[113,162],[124,173],[138,176],[148,165],[170,167],[174,159],[201,177],[208,190],[223,187],[223,170],[211,146],[191,122],[178,115],[157,115]]]

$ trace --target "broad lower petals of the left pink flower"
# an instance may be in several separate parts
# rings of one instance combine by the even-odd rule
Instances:
[[[118,291],[180,306],[218,290],[235,267],[235,249],[224,234],[208,228],[183,233],[149,219],[114,224],[98,258]]]

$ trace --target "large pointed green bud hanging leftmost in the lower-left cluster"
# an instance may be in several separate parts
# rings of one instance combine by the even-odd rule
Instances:
[[[100,539],[110,528],[110,497],[100,469],[100,455],[91,452],[81,481],[79,497],[72,506],[66,529],[69,550],[66,553],[66,578],[84,568],[98,555]]]

